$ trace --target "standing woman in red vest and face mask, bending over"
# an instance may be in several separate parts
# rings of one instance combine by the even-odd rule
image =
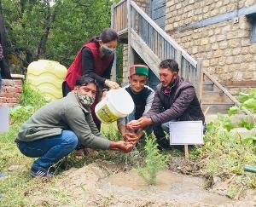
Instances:
[[[72,65],[67,70],[67,76],[62,84],[63,96],[73,90],[76,80],[85,74],[96,78],[102,89],[107,87],[118,89],[119,84],[109,80],[117,44],[118,34],[110,28],[104,29],[99,36],[90,39],[89,43],[84,43]],[[101,128],[101,122],[96,118],[95,106],[99,102],[100,96],[101,93],[98,91],[96,101],[90,106],[98,129]]]

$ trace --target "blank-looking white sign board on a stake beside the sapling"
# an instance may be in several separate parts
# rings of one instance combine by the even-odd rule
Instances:
[[[170,145],[202,145],[202,121],[170,122]]]

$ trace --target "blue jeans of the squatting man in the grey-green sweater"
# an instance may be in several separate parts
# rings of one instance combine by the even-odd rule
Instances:
[[[77,147],[79,139],[71,130],[62,130],[61,135],[49,136],[38,141],[19,141],[20,152],[30,158],[38,158],[32,168],[48,170],[51,165]]]

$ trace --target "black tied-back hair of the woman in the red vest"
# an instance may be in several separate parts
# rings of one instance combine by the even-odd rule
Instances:
[[[102,40],[102,43],[109,43],[113,40],[118,40],[119,35],[117,32],[115,32],[111,28],[106,28],[102,31],[102,33],[99,36],[92,37],[90,39],[90,43],[99,43],[100,40]]]

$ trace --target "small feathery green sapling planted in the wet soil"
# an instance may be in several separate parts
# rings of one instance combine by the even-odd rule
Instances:
[[[159,170],[164,170],[167,167],[170,156],[160,154],[155,137],[147,135],[145,135],[145,137],[145,166],[142,167],[140,164],[137,164],[137,173],[141,175],[149,185],[154,185],[157,172]]]

